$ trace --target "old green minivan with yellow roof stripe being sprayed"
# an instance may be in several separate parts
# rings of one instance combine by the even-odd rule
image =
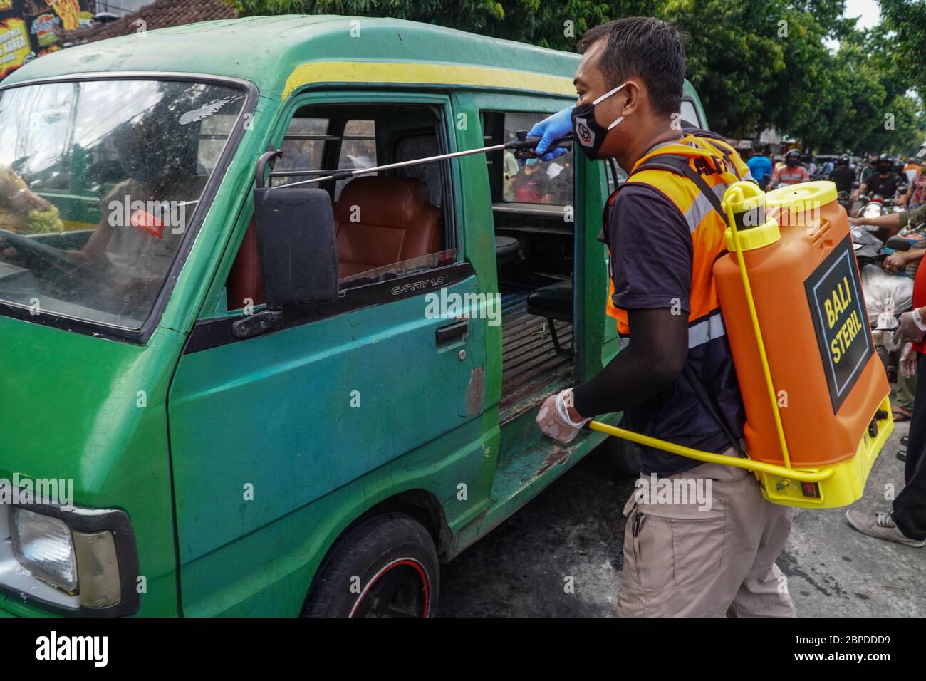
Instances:
[[[0,614],[432,615],[439,564],[603,441],[534,420],[619,350],[620,170],[348,171],[514,140],[577,63],[260,17],[7,78]],[[681,114],[707,127],[687,83]]]

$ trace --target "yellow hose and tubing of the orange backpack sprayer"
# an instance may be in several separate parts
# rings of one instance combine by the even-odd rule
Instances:
[[[733,184],[728,192],[732,192],[732,196],[740,199],[742,203],[743,199],[743,189],[741,187]],[[726,198],[726,196],[724,196]],[[732,202],[725,202],[725,210],[727,212],[727,218],[730,222],[730,229],[733,236],[733,243],[736,245],[736,259],[740,267],[740,275],[743,278],[743,288],[745,291],[746,304],[749,308],[749,317],[752,321],[753,331],[756,334],[756,342],[758,346],[759,359],[762,362],[762,373],[765,375],[765,384],[769,391],[769,399],[771,401],[771,410],[775,418],[775,430],[778,432],[778,441],[782,448],[782,456],[784,458],[784,465],[778,466],[774,463],[765,463],[763,461],[756,461],[751,459],[741,459],[738,457],[726,456],[723,454],[716,454],[714,452],[702,451],[701,449],[694,449],[690,447],[684,447],[683,445],[677,445],[673,442],[667,440],[660,440],[657,437],[650,437],[649,435],[642,435],[640,433],[634,433],[633,431],[626,430],[624,428],[619,428],[617,426],[608,425],[600,421],[590,421],[588,427],[592,430],[596,430],[600,433],[606,433],[607,435],[613,435],[615,437],[620,437],[625,440],[630,440],[635,442],[638,445],[644,445],[644,447],[651,447],[656,449],[661,449],[663,451],[668,451],[671,454],[678,454],[682,457],[687,457],[688,459],[694,459],[698,461],[704,461],[706,463],[720,463],[724,466],[732,466],[733,468],[745,468],[748,471],[753,471],[756,473],[770,473],[772,475],[779,475],[783,478],[789,478],[792,480],[798,480],[804,483],[818,483],[821,480],[826,480],[831,477],[834,473],[834,469],[826,468],[822,471],[798,471],[791,467],[791,458],[788,455],[788,445],[784,439],[784,428],[782,426],[782,415],[778,410],[778,399],[775,395],[775,387],[771,382],[771,370],[769,368],[769,357],[765,352],[765,343],[762,340],[762,331],[759,328],[758,324],[758,315],[756,312],[756,302],[752,295],[752,287],[749,285],[749,275],[746,273],[746,266],[743,259],[743,249],[740,245],[740,234],[736,229],[736,221],[733,218],[732,212]]]

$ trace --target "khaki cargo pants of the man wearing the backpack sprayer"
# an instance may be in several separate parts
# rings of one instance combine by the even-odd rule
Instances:
[[[787,579],[775,564],[795,509],[766,501],[745,469],[702,463],[663,479],[675,478],[700,480],[705,490],[709,478],[710,508],[677,503],[678,495],[637,503],[634,489],[624,507],[618,616],[795,617]]]

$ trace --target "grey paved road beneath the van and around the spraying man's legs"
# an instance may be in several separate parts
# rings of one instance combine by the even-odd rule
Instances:
[[[898,423],[875,462],[863,509],[903,487]],[[620,510],[633,479],[595,452],[527,507],[444,566],[439,612],[451,617],[612,616],[622,569]],[[926,548],[860,535],[843,510],[798,510],[779,567],[798,616],[926,616]],[[571,577],[574,592],[564,588]]]

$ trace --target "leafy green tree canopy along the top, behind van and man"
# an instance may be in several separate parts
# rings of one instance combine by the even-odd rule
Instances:
[[[715,131],[773,125],[807,149],[900,151],[923,126],[909,90],[926,86],[926,3],[880,1],[884,25],[863,32],[845,0],[226,0],[243,15],[388,16],[569,51],[599,23],[655,16],[687,34],[686,75]]]

